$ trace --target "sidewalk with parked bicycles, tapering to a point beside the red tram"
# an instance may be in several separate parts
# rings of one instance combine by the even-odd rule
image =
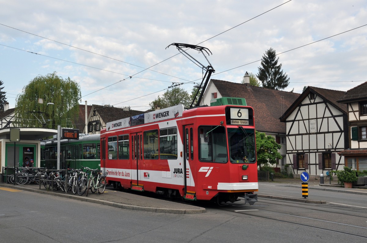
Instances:
[[[70,198],[84,202],[98,203],[128,210],[177,214],[195,214],[206,212],[205,208],[190,205],[187,203],[161,200],[149,197],[149,195],[147,196],[146,194],[139,195],[123,191],[115,191],[112,187],[106,187],[106,189],[108,188],[109,190],[105,190],[103,194],[91,193],[89,191],[88,197],[86,197],[86,194],[80,196],[77,194],[74,195],[72,192],[65,193],[61,190],[47,191],[44,186],[41,186],[41,189],[39,189],[40,186],[36,184],[14,186],[13,184],[0,183],[0,189],[1,187],[5,187],[4,189],[11,188],[15,190],[31,191],[57,197]]]

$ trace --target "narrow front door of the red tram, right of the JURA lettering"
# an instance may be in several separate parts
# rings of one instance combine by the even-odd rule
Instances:
[[[195,171],[195,165],[193,163],[194,160],[194,147],[193,147],[193,125],[185,125],[183,126],[183,134],[184,134],[184,163],[183,163],[183,173],[185,175],[185,194],[187,192],[191,192],[187,189],[188,186],[191,186],[193,183],[193,175],[192,172]]]

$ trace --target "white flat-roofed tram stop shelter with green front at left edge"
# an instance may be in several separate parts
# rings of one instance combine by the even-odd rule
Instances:
[[[57,130],[34,127],[12,128],[20,130],[20,141],[15,142],[15,167],[22,167],[26,157],[28,158],[30,167],[39,167],[41,158],[41,139],[57,135]],[[10,142],[10,128],[0,129],[0,148],[0,167],[14,167],[14,142]],[[1,170],[0,173],[2,174],[3,170]]]

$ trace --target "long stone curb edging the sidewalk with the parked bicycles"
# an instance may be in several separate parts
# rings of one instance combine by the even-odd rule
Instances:
[[[70,195],[66,193],[56,193],[52,191],[37,190],[37,189],[32,189],[32,188],[14,186],[10,184],[0,183],[0,187],[8,187],[8,188],[18,189],[18,190],[23,190],[23,191],[36,192],[36,193],[46,194],[46,195],[51,195],[51,196],[56,196],[56,197],[79,200],[82,202],[97,203],[97,204],[101,204],[105,206],[111,206],[111,207],[126,209],[126,210],[136,210],[136,211],[153,212],[153,213],[174,213],[174,214],[197,214],[197,213],[206,212],[205,208],[201,208],[197,206],[196,207],[199,209],[150,208],[150,207],[143,207],[143,206],[128,205],[128,204],[123,204],[123,203],[109,202],[109,201],[104,201],[101,199],[87,198],[83,196],[75,196],[75,195]]]

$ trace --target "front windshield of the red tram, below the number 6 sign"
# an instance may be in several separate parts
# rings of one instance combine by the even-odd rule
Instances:
[[[229,157],[232,163],[255,163],[255,130],[228,128]]]

